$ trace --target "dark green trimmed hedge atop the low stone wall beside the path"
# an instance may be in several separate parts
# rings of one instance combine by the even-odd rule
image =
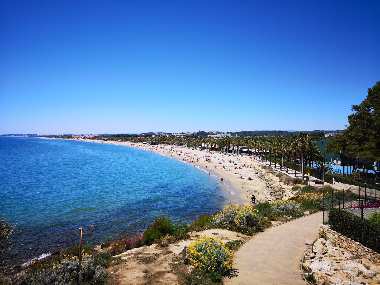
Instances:
[[[329,221],[331,230],[380,252],[380,227],[375,223],[337,208],[330,209]]]

